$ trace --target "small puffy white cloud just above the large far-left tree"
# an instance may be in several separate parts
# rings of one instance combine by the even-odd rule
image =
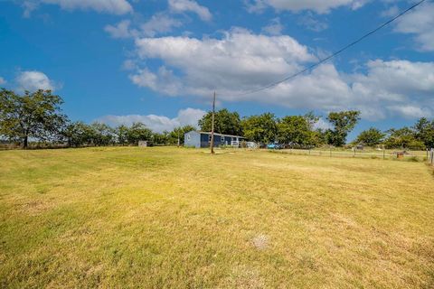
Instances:
[[[19,90],[35,91],[38,89],[52,90],[56,89],[54,82],[41,71],[23,71],[15,79]]]

